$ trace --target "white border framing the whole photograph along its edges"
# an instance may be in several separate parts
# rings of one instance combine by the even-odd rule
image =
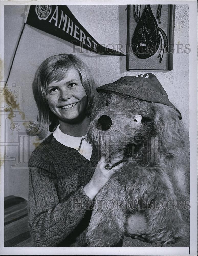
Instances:
[[[4,5],[27,5],[27,4],[144,4],[149,1],[1,1],[1,81],[4,78]],[[197,255],[197,1],[150,1],[152,4],[188,4],[189,5],[189,28],[190,28],[190,247],[4,247],[4,165],[1,165],[1,209],[0,209],[0,253],[3,255]],[[3,99],[1,98],[1,102]],[[4,127],[3,115],[1,127]],[[4,131],[1,129],[1,142],[4,141]],[[1,159],[4,152],[1,149]]]

